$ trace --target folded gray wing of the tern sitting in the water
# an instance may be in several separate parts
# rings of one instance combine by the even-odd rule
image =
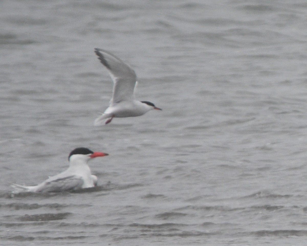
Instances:
[[[61,192],[70,190],[79,190],[82,188],[84,181],[82,177],[71,175],[64,178],[46,180],[41,183],[36,192]]]

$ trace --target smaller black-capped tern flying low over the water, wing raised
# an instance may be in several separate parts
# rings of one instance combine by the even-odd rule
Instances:
[[[161,110],[152,102],[134,99],[134,88],[137,84],[134,70],[122,60],[103,49],[95,48],[100,62],[107,68],[113,80],[113,95],[110,106],[99,116],[94,125],[103,125],[111,122],[114,117],[140,116],[149,110]]]

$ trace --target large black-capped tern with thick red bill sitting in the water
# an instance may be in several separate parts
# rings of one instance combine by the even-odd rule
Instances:
[[[17,192],[61,192],[90,188],[97,185],[97,177],[91,174],[87,162],[92,158],[107,156],[107,153],[93,152],[88,148],[75,148],[68,156],[69,167],[64,172],[36,186],[12,184]]]

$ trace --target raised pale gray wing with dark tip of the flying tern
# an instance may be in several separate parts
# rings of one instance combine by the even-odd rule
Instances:
[[[110,52],[95,48],[95,53],[99,57],[100,62],[108,69],[114,83],[111,104],[133,99],[136,83],[134,70]]]

